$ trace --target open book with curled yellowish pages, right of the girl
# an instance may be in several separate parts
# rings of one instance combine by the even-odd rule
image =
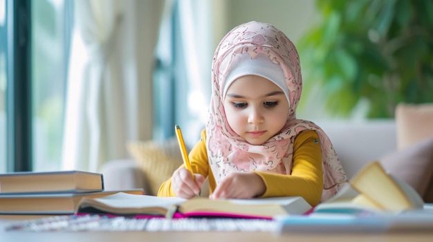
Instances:
[[[387,174],[378,161],[365,165],[350,183],[314,212],[403,212],[423,208],[421,196],[405,181]]]

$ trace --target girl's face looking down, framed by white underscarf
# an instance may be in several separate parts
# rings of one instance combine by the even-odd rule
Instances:
[[[233,81],[224,99],[228,124],[252,145],[261,145],[282,130],[288,108],[281,88],[256,75]]]

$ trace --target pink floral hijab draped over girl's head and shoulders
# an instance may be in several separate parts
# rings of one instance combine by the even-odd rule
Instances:
[[[225,117],[225,78],[230,72],[232,60],[239,54],[249,54],[252,59],[257,54],[265,54],[284,73],[288,89],[284,91],[290,105],[287,122],[281,132],[262,145],[251,145],[239,137]],[[206,125],[208,157],[217,184],[226,174],[234,171],[260,170],[291,174],[295,137],[302,130],[315,130],[322,144],[322,201],[340,190],[340,184],[347,182],[347,177],[329,137],[315,123],[296,119],[295,111],[301,91],[300,59],[295,46],[283,32],[268,23],[252,21],[237,26],[225,35],[212,61],[212,97]]]

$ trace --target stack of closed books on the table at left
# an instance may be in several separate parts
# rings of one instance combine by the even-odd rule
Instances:
[[[74,214],[83,198],[98,198],[142,189],[104,190],[100,173],[82,171],[0,174],[0,214]]]

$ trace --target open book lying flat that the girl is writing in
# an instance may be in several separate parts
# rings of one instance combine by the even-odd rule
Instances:
[[[76,212],[91,214],[145,215],[183,218],[191,216],[218,216],[272,219],[275,215],[304,214],[311,205],[301,196],[212,200],[182,199],[118,193],[102,198],[84,198]]]

